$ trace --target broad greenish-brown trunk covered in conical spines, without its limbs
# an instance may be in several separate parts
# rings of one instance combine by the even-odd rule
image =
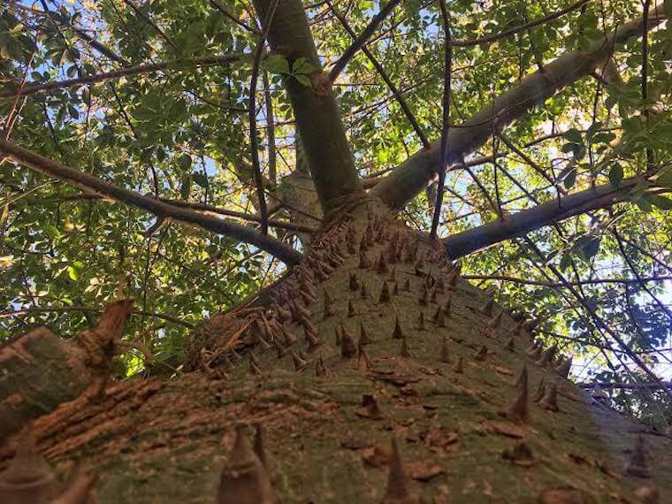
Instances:
[[[234,427],[261,424],[279,502],[637,502],[643,484],[670,495],[670,439],[589,404],[551,352],[525,351],[525,325],[376,200],[344,211],[271,298],[203,324],[193,372],[38,418],[42,454],[98,473],[101,502],[211,503],[223,467],[231,484]],[[542,383],[557,386],[558,410],[536,401]],[[623,472],[645,475],[628,462],[638,432],[650,478]],[[408,478],[394,492],[391,439]]]

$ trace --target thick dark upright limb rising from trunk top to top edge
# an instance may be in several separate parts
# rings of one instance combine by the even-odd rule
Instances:
[[[257,17],[268,21],[274,0],[255,0]],[[296,126],[308,158],[325,214],[340,206],[347,197],[361,190],[355,160],[350,152],[339,107],[330,82],[321,70],[317,50],[306,13],[300,0],[279,2],[268,29],[271,50],[290,62],[303,57],[314,69],[311,86],[305,86],[291,75],[285,76]]]

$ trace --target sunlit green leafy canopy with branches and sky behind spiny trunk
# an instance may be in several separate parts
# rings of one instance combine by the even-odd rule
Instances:
[[[672,2],[303,6],[312,60],[269,50],[241,0],[0,6],[0,339],[73,334],[122,289],[128,337],[179,373],[187,333],[279,279],[346,190],[426,232],[441,193],[463,276],[668,425]],[[296,133],[324,87],[349,147]],[[359,180],[314,187],[306,159],[347,149]]]

